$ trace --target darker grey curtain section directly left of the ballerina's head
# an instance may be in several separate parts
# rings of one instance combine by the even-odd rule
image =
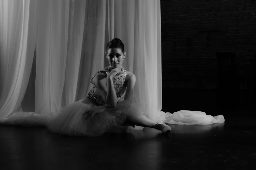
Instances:
[[[90,79],[97,71],[104,68],[106,3],[106,0],[86,2],[82,54],[75,101],[88,94],[93,87]]]

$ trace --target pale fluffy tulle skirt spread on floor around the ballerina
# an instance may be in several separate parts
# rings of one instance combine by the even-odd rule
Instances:
[[[95,114],[86,119],[88,113]],[[56,113],[55,113],[56,114]],[[128,116],[143,116],[135,106],[106,109],[95,106],[88,97],[64,106],[57,116],[46,123],[54,133],[70,136],[100,136],[111,128],[121,125]]]

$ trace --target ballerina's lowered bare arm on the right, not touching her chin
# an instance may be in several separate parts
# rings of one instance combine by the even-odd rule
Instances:
[[[133,73],[128,77],[127,79],[127,89],[125,93],[124,100],[121,102],[117,103],[117,106],[131,106],[132,101],[133,101],[133,91],[134,91],[134,86],[136,83],[136,77]]]

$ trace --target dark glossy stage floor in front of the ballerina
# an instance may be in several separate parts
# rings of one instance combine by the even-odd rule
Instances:
[[[168,137],[151,128],[70,137],[45,127],[1,125],[0,169],[254,169],[255,125],[256,117],[226,118],[225,123],[212,125],[170,125]]]

